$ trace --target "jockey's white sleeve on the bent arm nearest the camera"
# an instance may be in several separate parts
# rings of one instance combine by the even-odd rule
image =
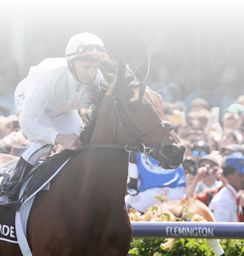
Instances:
[[[26,82],[28,82],[28,90],[21,107],[19,124],[29,140],[41,140],[55,145],[55,138],[59,132],[50,125],[48,115],[45,116],[46,126],[38,122],[39,117],[44,115],[46,110],[51,95],[50,87],[45,84],[45,77],[40,77],[40,74],[32,75]]]

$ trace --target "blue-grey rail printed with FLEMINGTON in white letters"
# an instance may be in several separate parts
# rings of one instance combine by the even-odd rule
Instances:
[[[134,237],[244,239],[244,223],[132,221],[131,224]]]

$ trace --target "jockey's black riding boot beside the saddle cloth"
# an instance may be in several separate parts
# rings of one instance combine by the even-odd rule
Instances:
[[[21,203],[18,201],[19,189],[14,195],[11,193],[11,191],[20,180],[22,180],[31,172],[32,168],[33,165],[25,161],[24,158],[20,158],[20,160],[17,162],[16,168],[11,172],[7,180],[2,184],[0,207],[17,209],[21,206]]]

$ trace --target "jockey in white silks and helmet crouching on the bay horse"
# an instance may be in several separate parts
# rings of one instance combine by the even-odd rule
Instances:
[[[20,205],[18,193],[11,194],[19,180],[28,175],[39,158],[55,144],[75,150],[81,146],[78,110],[91,107],[92,92],[106,84],[99,69],[101,61],[111,64],[102,40],[84,32],[71,37],[63,58],[47,58],[30,68],[15,91],[19,123],[30,140],[16,168],[2,184],[0,206]]]

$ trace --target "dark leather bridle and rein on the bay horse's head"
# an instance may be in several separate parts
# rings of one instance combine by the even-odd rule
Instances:
[[[139,131],[134,123],[128,118],[124,105],[122,104],[122,102],[119,100],[119,96],[121,95],[121,93],[123,91],[125,91],[128,88],[140,88],[140,87],[144,87],[146,88],[146,86],[148,86],[147,83],[145,82],[140,82],[140,81],[136,81],[136,82],[131,82],[126,88],[124,88],[122,91],[120,91],[117,95],[115,95],[113,97],[113,102],[115,104],[115,109],[116,112],[118,113],[118,116],[121,119],[121,123],[123,124],[123,126],[128,130],[128,132],[130,134],[133,135],[134,139],[137,142],[137,145],[131,146],[131,145],[115,145],[115,144],[89,144],[86,146],[82,146],[78,149],[76,149],[76,152],[80,152],[80,151],[84,151],[84,150],[88,150],[88,149],[93,149],[93,148],[116,148],[116,149],[124,149],[126,150],[126,152],[132,153],[132,152],[139,152],[141,154],[145,155],[145,162],[147,164],[149,164],[150,166],[159,166],[159,165],[151,165],[148,162],[148,157],[150,155],[151,152],[155,151],[155,149],[152,149],[150,147],[146,147],[144,144],[142,144],[142,137],[150,132],[152,129],[157,128],[158,126],[163,126],[166,129],[172,129],[172,126],[169,122],[167,121],[163,121],[158,123],[156,126],[152,126],[150,128],[147,128],[144,131]],[[165,132],[164,132],[165,134]],[[162,136],[164,136],[164,134]],[[159,145],[160,146],[160,145]],[[159,148],[158,146],[158,148]],[[158,150],[157,148],[157,150]]]

